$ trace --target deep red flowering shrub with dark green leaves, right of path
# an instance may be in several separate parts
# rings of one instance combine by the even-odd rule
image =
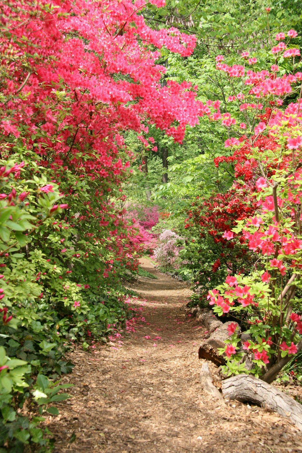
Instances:
[[[251,182],[234,184],[225,194],[197,197],[187,209],[186,240],[182,257],[192,272],[192,282],[202,288],[199,299],[205,299],[213,285],[220,284],[229,273],[246,274],[253,264],[245,240],[231,231],[237,221],[254,213],[257,203],[252,199]]]

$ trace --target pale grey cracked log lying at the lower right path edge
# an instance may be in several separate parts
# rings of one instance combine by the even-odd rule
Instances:
[[[270,384],[254,376],[233,376],[222,382],[225,399],[251,402],[274,410],[302,431],[302,405]]]

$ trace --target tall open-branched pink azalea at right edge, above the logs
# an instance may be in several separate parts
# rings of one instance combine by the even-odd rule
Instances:
[[[237,177],[243,184],[252,181],[257,204],[252,217],[223,234],[226,241],[244,239],[254,252],[252,271],[228,275],[208,294],[215,313],[246,323],[250,335],[240,347],[237,324],[232,325],[221,351],[228,359],[224,372],[252,372],[267,382],[302,349],[302,72],[297,72],[300,51],[291,41],[296,36],[294,30],[277,34],[267,56],[273,60],[270,70],[257,71],[257,59],[248,52],[240,65],[228,66],[223,56],[216,57],[216,68],[234,87],[229,101],[235,113],[221,114],[216,107],[207,112],[229,131],[225,147],[233,154],[217,164],[235,156]],[[279,72],[283,61],[291,68],[284,75]],[[294,92],[297,101],[283,108],[283,99]],[[251,370],[246,357],[253,362]]]

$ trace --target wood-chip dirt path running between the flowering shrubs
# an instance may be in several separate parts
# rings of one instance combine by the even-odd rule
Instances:
[[[74,398],[48,420],[55,452],[302,452],[302,436],[278,414],[237,402],[221,407],[201,392],[204,329],[184,312],[190,291],[142,262],[158,277],[131,286],[145,299],[137,305],[145,322],[93,354],[72,353],[76,366],[63,381],[75,385]]]

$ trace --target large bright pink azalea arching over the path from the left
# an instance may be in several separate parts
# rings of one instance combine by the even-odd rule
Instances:
[[[195,37],[150,29],[140,14],[145,6],[140,0],[0,5],[0,157],[4,166],[9,159],[24,162],[21,175],[30,181],[21,191],[16,177],[3,200],[21,196],[24,211],[40,216],[30,235],[20,226],[11,236],[0,230],[0,248],[9,249],[2,255],[4,278],[18,292],[18,280],[10,279],[16,243],[14,252],[24,247],[24,268],[30,263],[29,280],[63,314],[81,312],[84,302],[74,307],[75,300],[96,300],[116,272],[137,266],[136,229],[121,208],[134,158],[124,131],[144,140],[154,125],[181,142],[185,125],[196,124],[201,113],[191,84],[162,86],[166,69],[156,64],[163,46],[190,55]],[[53,202],[54,222],[41,212],[43,197],[32,194],[37,186]],[[14,299],[6,294],[3,304]]]

